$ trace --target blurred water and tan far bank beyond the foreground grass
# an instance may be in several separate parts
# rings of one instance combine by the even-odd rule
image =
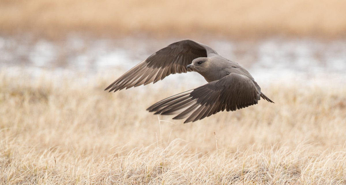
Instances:
[[[345,82],[346,1],[0,1],[0,67],[118,70],[190,38],[257,81],[333,75]],[[177,77],[179,78],[179,77]]]

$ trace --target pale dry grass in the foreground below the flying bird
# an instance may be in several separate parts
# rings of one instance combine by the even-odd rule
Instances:
[[[186,88],[107,93],[120,73],[12,72],[0,72],[0,184],[346,183],[345,86],[276,81],[262,88],[276,104],[172,124],[145,109]]]

